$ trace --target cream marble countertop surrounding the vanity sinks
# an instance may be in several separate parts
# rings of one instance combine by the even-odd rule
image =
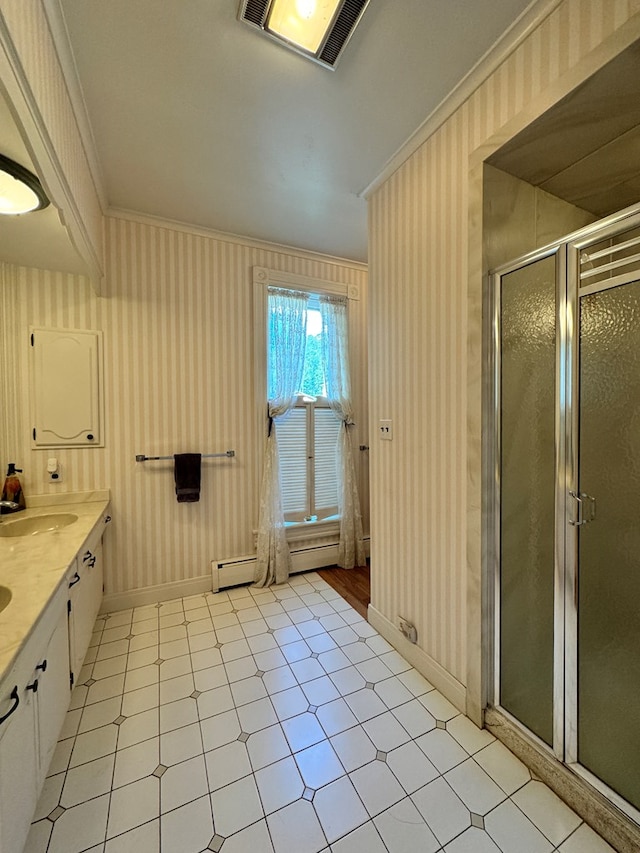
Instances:
[[[51,533],[0,537],[0,585],[11,601],[0,612],[0,681],[65,581],[67,569],[109,507],[109,492],[79,492],[27,498],[27,509],[3,515],[1,524],[69,512],[78,520]]]

